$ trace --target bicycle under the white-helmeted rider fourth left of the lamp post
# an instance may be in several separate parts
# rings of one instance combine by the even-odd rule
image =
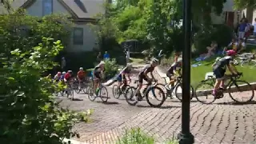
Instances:
[[[93,78],[91,78],[91,80],[93,81]],[[99,97],[102,99],[102,102],[107,102],[107,100],[109,99],[108,92],[106,90],[106,87],[102,86],[102,82],[99,82],[99,86],[95,91],[96,95],[94,95],[93,87],[94,82],[91,83],[91,86],[88,89],[88,98],[90,99],[90,101],[94,102],[94,100]],[[106,96],[103,96],[103,94],[106,94]]]

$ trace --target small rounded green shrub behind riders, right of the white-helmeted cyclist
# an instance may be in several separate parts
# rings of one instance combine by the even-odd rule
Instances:
[[[106,79],[113,78],[118,73],[118,65],[115,59],[105,60],[105,77]]]

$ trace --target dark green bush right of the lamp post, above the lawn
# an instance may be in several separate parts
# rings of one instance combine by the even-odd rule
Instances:
[[[234,37],[233,30],[226,25],[210,26],[208,29],[199,30],[194,36],[195,54],[205,53],[206,46],[210,46],[211,41],[216,41],[218,46],[227,46]]]

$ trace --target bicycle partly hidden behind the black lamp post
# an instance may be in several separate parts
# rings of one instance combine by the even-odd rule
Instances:
[[[166,78],[168,77],[163,77],[163,79],[166,82]],[[168,82],[166,82],[167,84]],[[163,86],[164,89],[166,90],[166,98],[172,99],[172,94],[174,93],[175,97],[178,98],[180,102],[182,102],[182,77],[176,78],[176,84],[172,86],[170,89],[166,89],[166,85],[159,83],[158,85]],[[194,88],[193,86],[190,86],[190,99],[194,98]]]

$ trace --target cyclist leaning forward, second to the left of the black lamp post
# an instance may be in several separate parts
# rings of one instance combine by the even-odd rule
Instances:
[[[142,101],[142,95],[140,93],[140,90],[142,89],[142,82],[143,82],[143,79],[148,82],[147,83],[147,86],[150,86],[152,80],[154,78],[154,75],[153,75],[153,71],[154,71],[154,67],[155,66],[158,66],[158,59],[157,58],[153,58],[152,61],[150,62],[150,65],[146,65],[139,73],[138,73],[138,88],[136,90],[136,95],[138,96],[138,101]],[[150,73],[151,75],[151,78],[149,78],[147,76],[147,74]],[[146,86],[146,88],[147,88]],[[146,89],[145,89],[146,90]]]

